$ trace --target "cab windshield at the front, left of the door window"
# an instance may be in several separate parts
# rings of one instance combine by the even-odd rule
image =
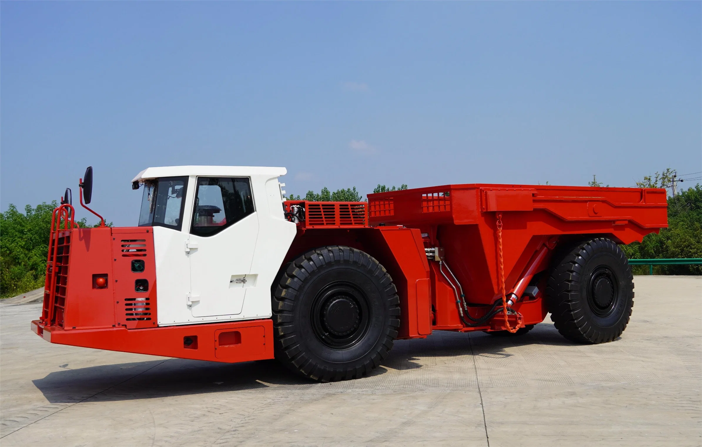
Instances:
[[[164,177],[144,183],[141,199],[140,227],[168,227],[183,225],[187,177]]]

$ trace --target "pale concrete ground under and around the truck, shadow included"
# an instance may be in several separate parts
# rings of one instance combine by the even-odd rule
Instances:
[[[40,305],[0,307],[10,446],[700,446],[702,277],[637,276],[631,323],[576,345],[437,332],[368,378],[51,345]]]

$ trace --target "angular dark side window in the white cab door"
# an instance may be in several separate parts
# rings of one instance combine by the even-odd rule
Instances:
[[[253,211],[249,178],[198,177],[190,232],[212,236]]]

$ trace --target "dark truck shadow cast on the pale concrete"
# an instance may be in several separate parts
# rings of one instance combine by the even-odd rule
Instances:
[[[426,339],[395,342],[388,358],[369,374],[368,379],[422,368],[423,358],[470,355],[506,358],[512,354],[505,348],[535,344],[574,345],[562,338],[549,323],[538,324],[530,333],[516,337],[437,331]],[[158,359],[78,369],[71,369],[69,363],[59,367],[60,371],[33,381],[51,403],[154,399],[281,386],[286,389],[324,386],[294,375],[275,360],[217,363]]]

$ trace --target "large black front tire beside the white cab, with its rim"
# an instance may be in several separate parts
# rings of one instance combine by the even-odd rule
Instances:
[[[379,366],[399,327],[390,275],[345,246],[317,248],[287,265],[272,307],[276,358],[321,382],[359,378]]]

